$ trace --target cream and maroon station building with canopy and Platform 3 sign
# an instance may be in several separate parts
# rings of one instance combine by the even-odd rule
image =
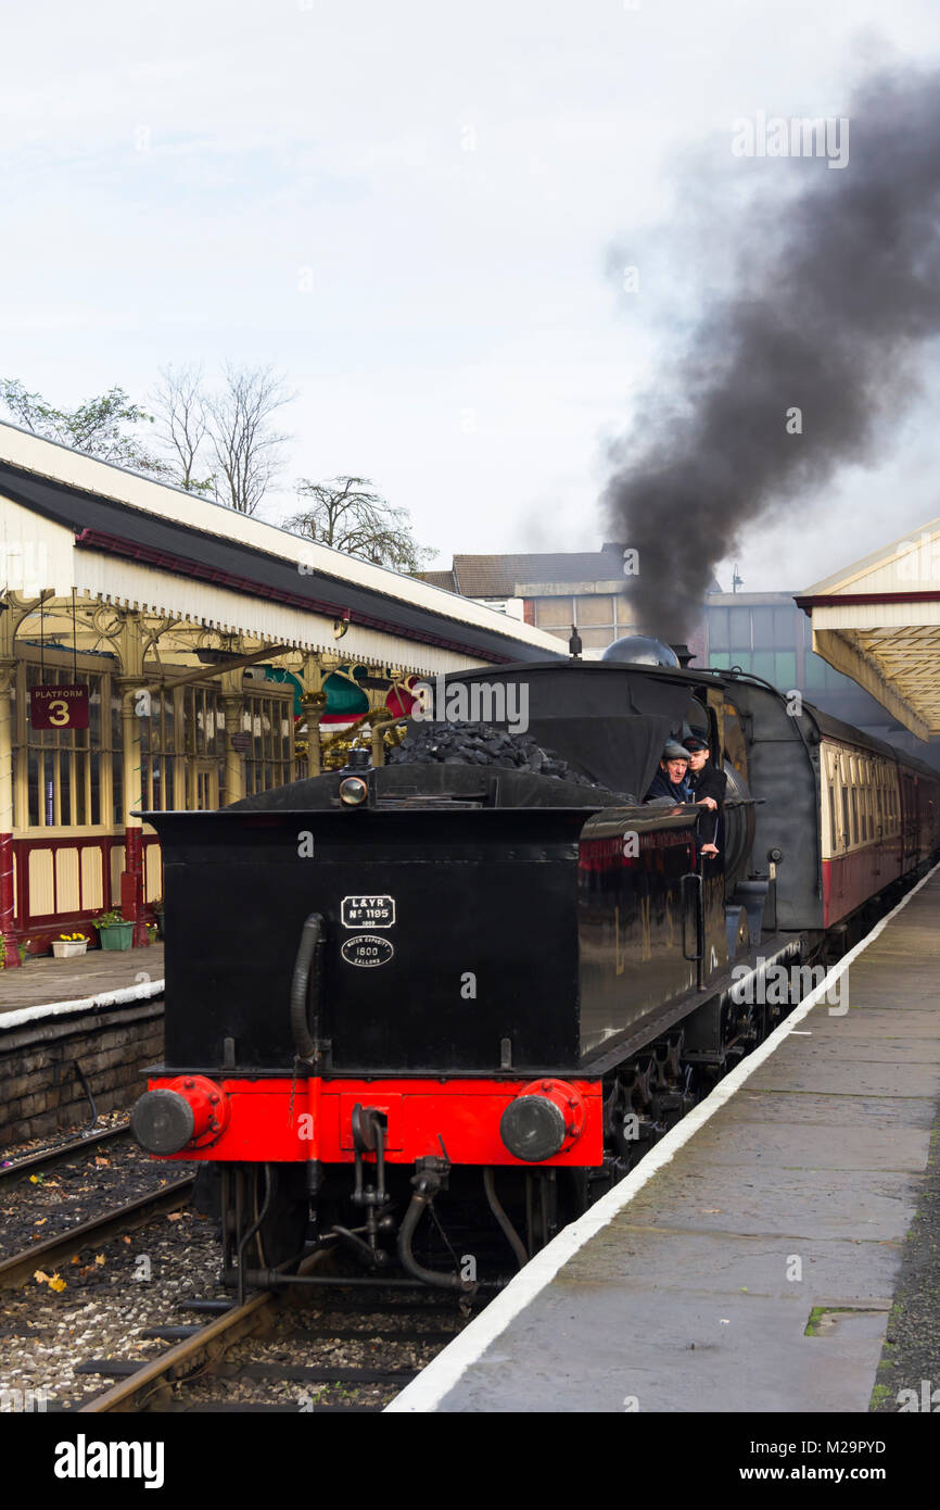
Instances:
[[[0,426],[0,938],[161,897],[139,812],[320,772],[409,683],[563,654],[534,625]]]

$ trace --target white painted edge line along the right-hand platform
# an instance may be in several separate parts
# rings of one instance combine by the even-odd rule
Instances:
[[[931,880],[932,876],[940,871],[940,864],[934,865],[932,870],[923,876],[916,886],[913,886],[905,897],[901,898],[896,908],[881,918],[875,924],[871,933],[868,933],[862,942],[856,944],[854,948],[845,954],[837,965],[828,971],[824,980],[800,1003],[798,1007],[788,1016],[785,1022],[774,1028],[774,1031],[747,1055],[735,1069],[730,1071],[723,1080],[718,1081],[712,1093],[706,1101],[693,1107],[680,1122],[667,1132],[667,1136],[655,1145],[653,1149],[643,1158],[641,1164],[626,1175],[619,1185],[608,1190],[605,1196],[597,1200],[596,1205],[590,1208],[570,1226],[566,1226],[563,1232],[554,1238],[548,1247],[543,1247],[540,1253],[522,1268],[515,1279],[502,1290],[493,1302],[486,1308],[486,1311],[471,1321],[468,1327],[460,1332],[453,1342],[438,1353],[435,1359],[424,1368],[410,1385],[401,1391],[400,1395],[385,1407],[385,1415],[409,1413],[409,1412],[432,1412],[436,1410],[441,1401],[450,1391],[460,1382],[463,1373],[475,1364],[478,1357],[483,1356],[486,1348],[493,1342],[502,1332],[505,1332],[510,1321],[513,1321],[525,1306],[534,1300],[546,1285],[555,1277],[558,1270],[572,1258],[584,1244],[601,1232],[602,1228],[608,1226],[613,1219],[629,1205],[635,1194],[658,1173],[665,1164],[668,1164],[679,1149],[690,1142],[691,1137],[711,1122],[714,1114],[735,1095],[736,1090],[753,1075],[753,1072],[763,1065],[765,1060],[776,1052],[780,1043],[792,1033],[794,1027],[812,1012],[821,997],[827,994],[830,986],[845,974],[848,966],[862,954],[869,944],[874,944],[887,924],[908,904],[911,897],[916,897],[922,886]]]

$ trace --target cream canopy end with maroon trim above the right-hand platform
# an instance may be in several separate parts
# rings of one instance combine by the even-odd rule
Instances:
[[[940,734],[940,519],[797,596],[813,649],[919,738]]]

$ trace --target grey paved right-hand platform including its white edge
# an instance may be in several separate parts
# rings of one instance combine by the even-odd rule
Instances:
[[[938,1102],[940,867],[388,1410],[868,1410]]]

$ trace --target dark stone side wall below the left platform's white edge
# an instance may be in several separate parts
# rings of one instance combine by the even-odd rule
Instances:
[[[3,1030],[0,1016],[0,1148],[45,1137],[97,1111],[130,1110],[146,1090],[142,1071],[163,1060],[163,1000],[38,1018]]]

